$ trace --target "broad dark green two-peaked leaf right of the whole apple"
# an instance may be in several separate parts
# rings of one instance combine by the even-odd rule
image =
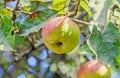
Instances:
[[[107,25],[103,34],[94,26],[88,45],[101,62],[115,66],[114,58],[120,54],[120,49],[115,45],[118,41],[118,33],[118,30],[111,22]]]

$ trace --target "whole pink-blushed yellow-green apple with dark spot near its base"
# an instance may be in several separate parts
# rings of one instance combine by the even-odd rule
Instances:
[[[57,54],[64,54],[78,45],[80,30],[70,18],[60,16],[50,20],[42,28],[42,38],[48,49]]]

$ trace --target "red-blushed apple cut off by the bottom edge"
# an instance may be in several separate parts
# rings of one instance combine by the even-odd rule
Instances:
[[[80,67],[78,78],[111,78],[110,69],[98,60],[90,60]]]

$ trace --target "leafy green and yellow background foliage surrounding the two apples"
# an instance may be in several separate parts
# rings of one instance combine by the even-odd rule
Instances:
[[[81,31],[79,45],[62,55],[41,37],[42,27],[60,15]],[[109,65],[111,78],[119,78],[120,0],[1,0],[0,58],[0,78],[76,78],[90,59]]]

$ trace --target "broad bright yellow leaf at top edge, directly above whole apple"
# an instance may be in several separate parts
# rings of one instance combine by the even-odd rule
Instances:
[[[59,11],[59,14],[66,14],[66,5],[68,0],[53,0],[53,9]]]

